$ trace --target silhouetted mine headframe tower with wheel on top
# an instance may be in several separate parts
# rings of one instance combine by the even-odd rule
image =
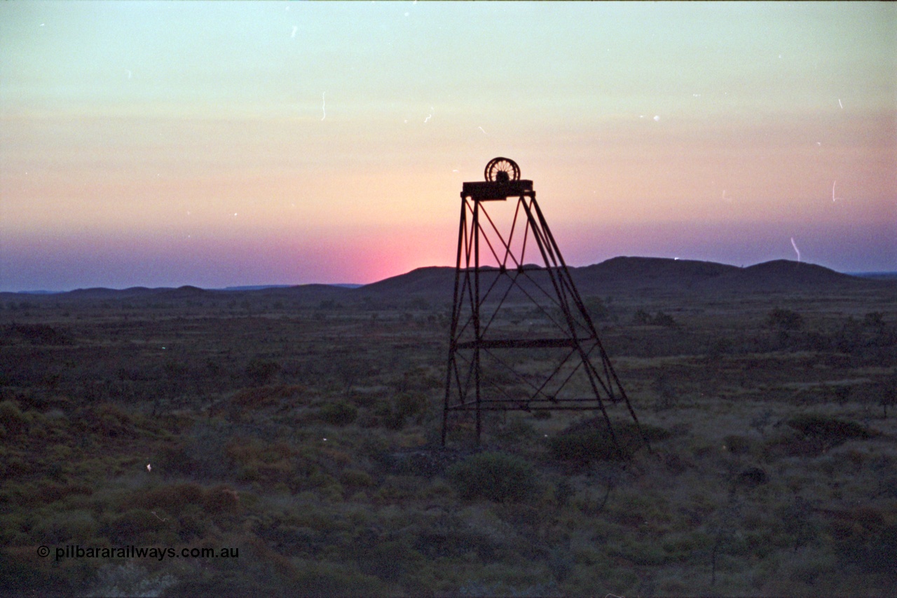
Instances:
[[[513,209],[509,198],[517,198]],[[459,413],[474,420],[479,444],[483,411],[596,410],[619,449],[614,406],[638,426],[533,181],[520,180],[513,160],[495,158],[485,181],[461,192],[442,444]]]

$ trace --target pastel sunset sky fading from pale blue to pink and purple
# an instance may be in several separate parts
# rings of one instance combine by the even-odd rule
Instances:
[[[897,270],[895,74],[895,4],[4,2],[0,290],[454,265],[497,155],[570,265]]]

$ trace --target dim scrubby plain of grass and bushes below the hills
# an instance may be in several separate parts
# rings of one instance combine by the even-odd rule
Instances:
[[[592,413],[441,450],[445,303],[5,295],[0,592],[894,595],[893,289],[588,297],[625,461]]]

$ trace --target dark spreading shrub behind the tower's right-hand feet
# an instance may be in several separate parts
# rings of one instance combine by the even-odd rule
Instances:
[[[613,461],[638,451],[644,445],[642,435],[649,441],[669,436],[662,427],[642,424],[639,431],[633,423],[614,424],[614,434],[617,444],[607,432],[605,422],[593,418],[562,431],[549,440],[548,446],[552,456],[560,461]]]

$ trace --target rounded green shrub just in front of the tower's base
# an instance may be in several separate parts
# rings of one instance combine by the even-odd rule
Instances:
[[[536,488],[533,466],[516,455],[479,453],[457,462],[446,471],[464,498],[494,501],[524,500]]]

